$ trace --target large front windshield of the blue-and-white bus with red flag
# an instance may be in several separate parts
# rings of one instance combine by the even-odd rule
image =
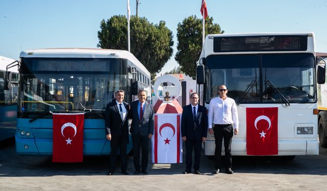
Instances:
[[[22,58],[20,117],[46,112],[101,114],[115,91],[127,91],[127,72],[124,59]]]

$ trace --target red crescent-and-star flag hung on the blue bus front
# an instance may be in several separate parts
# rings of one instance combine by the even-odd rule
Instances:
[[[83,161],[84,113],[53,114],[52,162]]]

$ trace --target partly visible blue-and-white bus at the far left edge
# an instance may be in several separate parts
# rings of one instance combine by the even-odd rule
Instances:
[[[10,90],[4,90],[5,72],[13,59],[0,56],[0,141],[13,138],[16,131],[18,70],[10,68],[12,83]]]

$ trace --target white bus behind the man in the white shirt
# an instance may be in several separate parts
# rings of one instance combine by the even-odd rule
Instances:
[[[266,133],[256,126],[260,119],[268,122],[265,130],[271,127],[267,117],[260,116],[253,124],[247,121],[252,108],[277,108],[273,155],[318,154],[317,84],[325,81],[325,66],[317,63],[313,33],[206,36],[197,63],[197,91],[206,107],[219,96],[220,85],[226,85],[227,96],[235,99],[240,132],[232,140],[233,155],[252,155],[247,153],[247,122],[259,138]],[[215,154],[213,135],[208,135],[204,149],[206,155]]]

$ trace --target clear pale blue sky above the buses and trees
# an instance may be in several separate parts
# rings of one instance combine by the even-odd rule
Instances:
[[[173,32],[173,56],[159,74],[171,71],[178,66],[177,24],[202,17],[201,0],[139,3],[139,17],[154,24],[163,20]],[[327,52],[327,0],[206,0],[206,5],[225,34],[313,32],[316,52]],[[136,0],[130,0],[130,9],[135,15]],[[113,15],[127,15],[127,0],[0,0],[0,56],[18,60],[27,49],[97,48],[100,22]]]

